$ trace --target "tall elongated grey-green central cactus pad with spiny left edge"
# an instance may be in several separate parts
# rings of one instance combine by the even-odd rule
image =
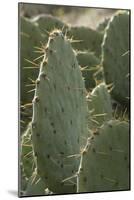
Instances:
[[[76,192],[76,180],[70,177],[88,135],[85,92],[70,42],[61,31],[52,32],[36,81],[32,142],[38,174],[54,193]]]

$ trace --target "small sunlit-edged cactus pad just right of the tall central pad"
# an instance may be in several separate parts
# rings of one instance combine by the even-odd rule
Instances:
[[[106,84],[100,83],[87,96],[93,126],[101,126],[104,121],[112,119],[112,103]]]

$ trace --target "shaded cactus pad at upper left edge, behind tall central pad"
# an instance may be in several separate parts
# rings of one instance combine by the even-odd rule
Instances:
[[[41,46],[43,40],[39,29],[26,18],[20,20],[20,86],[21,86],[21,102],[29,103],[32,101],[33,93],[27,93],[30,90],[26,85],[30,84],[31,78],[35,80],[39,69],[26,69],[26,67],[34,67],[32,64],[26,61],[33,61],[38,57],[38,54],[34,52],[34,47]]]

